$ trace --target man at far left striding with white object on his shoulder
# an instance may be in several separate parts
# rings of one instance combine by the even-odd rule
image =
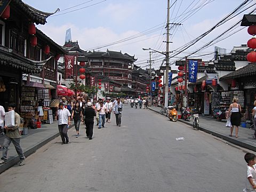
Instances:
[[[14,111],[15,110],[15,103],[9,103],[8,105],[8,111]],[[20,126],[20,115],[18,113],[14,113],[14,126],[4,126],[4,129],[6,130],[5,138],[4,138],[4,145],[3,145],[3,157],[0,160],[0,164],[3,164],[7,161],[7,153],[8,153],[8,148],[11,144],[13,143],[19,157],[20,157],[20,162],[19,165],[22,166],[24,165],[25,162],[25,156],[23,154],[22,148],[20,147],[20,138],[21,134],[19,131],[19,126]]]

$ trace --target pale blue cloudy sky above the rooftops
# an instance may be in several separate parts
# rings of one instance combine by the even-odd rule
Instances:
[[[85,51],[122,51],[135,55],[138,60],[135,65],[148,67],[149,51],[151,48],[159,52],[166,51],[166,18],[167,0],[23,0],[23,2],[44,12],[59,12],[47,18],[45,25],[36,26],[59,45],[65,43],[66,30],[71,28],[72,41],[78,41]],[[217,22],[234,11],[242,0],[170,0],[170,22],[181,25],[170,25],[170,53],[177,53],[179,47],[212,28]],[[255,3],[251,0],[246,7]],[[246,9],[246,7],[244,9]],[[255,5],[254,5],[255,9]],[[252,11],[252,7],[214,29],[201,41],[175,55],[170,62],[198,50],[201,46],[222,34],[234,23],[243,18],[244,14]],[[241,29],[241,30],[240,30]],[[207,49],[191,55],[191,58],[203,58],[204,61],[214,57],[214,46],[227,49],[229,53],[234,46],[246,44],[251,38],[247,28],[240,25],[240,30],[234,35],[227,34],[223,41],[216,42]],[[121,41],[122,43],[113,44]],[[202,56],[201,56],[202,55]],[[152,54],[153,68],[157,69],[164,55]]]

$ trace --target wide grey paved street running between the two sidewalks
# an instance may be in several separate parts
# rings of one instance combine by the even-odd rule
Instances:
[[[122,125],[93,140],[74,129],[0,175],[0,191],[243,191],[249,150],[147,109],[124,106]],[[57,127],[56,127],[57,129]],[[184,137],[177,141],[175,138]],[[21,143],[22,145],[22,143]]]

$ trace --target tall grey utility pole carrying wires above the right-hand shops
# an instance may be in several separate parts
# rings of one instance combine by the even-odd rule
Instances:
[[[165,97],[164,107],[168,108],[169,83],[169,41],[170,41],[170,0],[167,0],[167,38],[166,38],[166,71],[165,71]]]

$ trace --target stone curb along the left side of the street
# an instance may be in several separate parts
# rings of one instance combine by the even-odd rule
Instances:
[[[74,124],[70,125],[69,129],[74,126],[75,126]],[[37,149],[43,147],[46,143],[49,143],[53,139],[57,138],[59,135],[60,133],[55,133],[50,138],[46,138],[44,141],[36,143],[34,146],[30,147],[26,151],[23,151],[24,156],[28,157],[29,155],[34,154]],[[7,169],[9,169],[10,167],[17,165],[19,161],[20,161],[20,158],[18,155],[15,157],[9,158],[6,163],[0,165],[0,174],[6,171]]]

